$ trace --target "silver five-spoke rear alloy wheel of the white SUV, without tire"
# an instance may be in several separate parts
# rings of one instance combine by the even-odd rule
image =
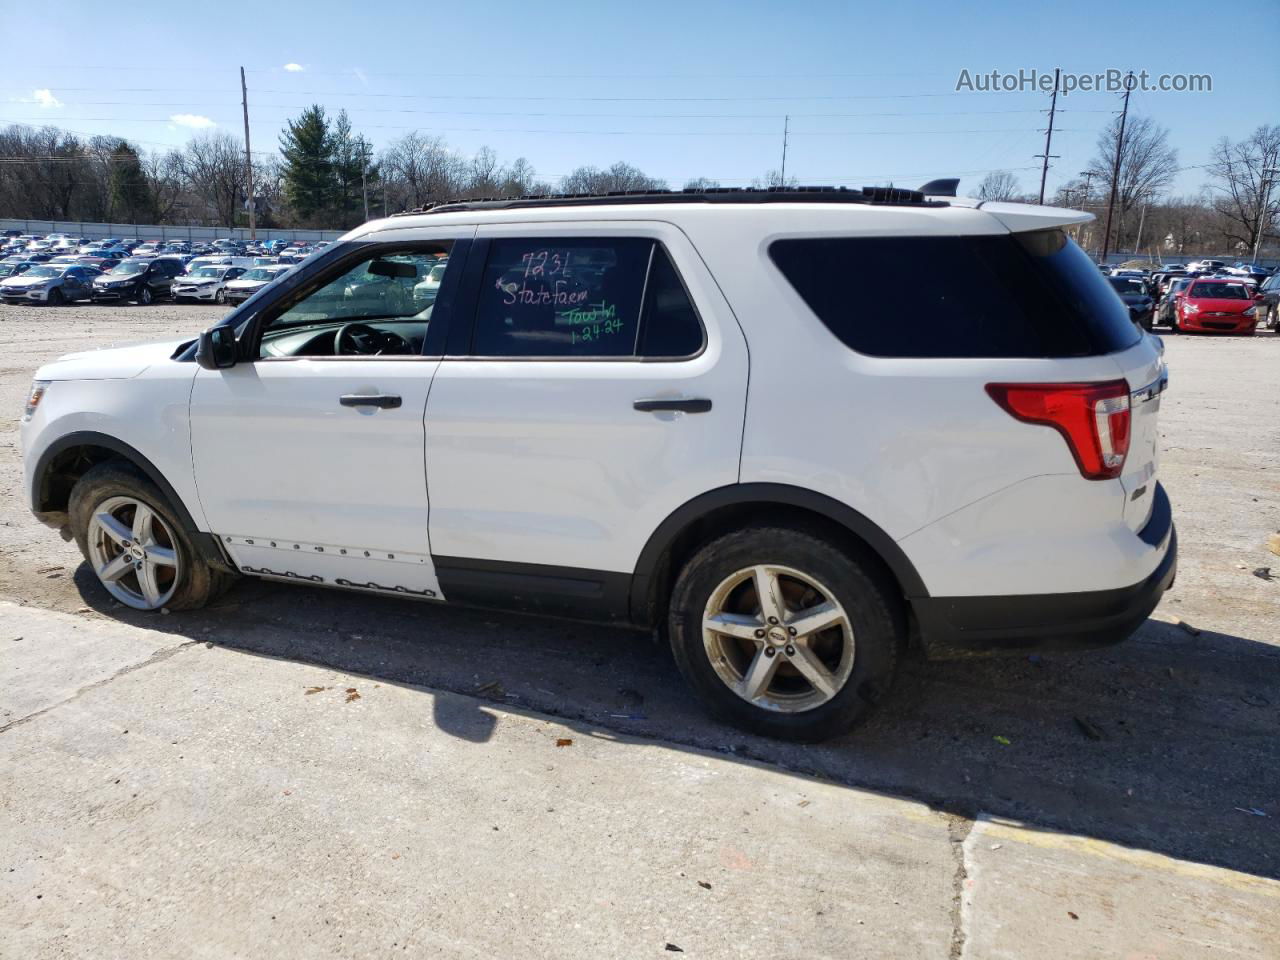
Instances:
[[[730,690],[780,713],[822,707],[854,669],[844,607],[791,567],[756,564],[724,577],[703,612],[703,646]]]

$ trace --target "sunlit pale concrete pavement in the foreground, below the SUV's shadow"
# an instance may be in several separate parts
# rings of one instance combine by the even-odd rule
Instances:
[[[0,678],[3,956],[1280,945],[1270,879],[92,613],[0,604]]]

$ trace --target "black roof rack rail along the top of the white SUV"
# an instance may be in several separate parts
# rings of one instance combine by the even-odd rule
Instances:
[[[516,210],[548,206],[623,204],[874,204],[947,206],[918,189],[897,187],[699,187],[696,189],[623,189],[609,193],[536,193],[522,197],[468,197],[426,204],[392,216],[453,214],[463,210]]]

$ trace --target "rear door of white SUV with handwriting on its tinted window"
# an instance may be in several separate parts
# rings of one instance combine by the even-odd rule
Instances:
[[[426,410],[445,596],[602,599],[672,511],[737,481],[742,333],[671,224],[480,227],[467,276]]]

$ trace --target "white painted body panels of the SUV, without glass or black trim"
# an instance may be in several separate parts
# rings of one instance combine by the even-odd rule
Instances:
[[[955,201],[366,224],[344,239],[659,239],[707,349],[678,362],[300,357],[220,371],[169,360],[172,346],[78,355],[37,374],[55,383],[23,424],[28,488],[49,443],[97,430],[148,457],[242,567],[419,595],[439,595],[433,554],[628,573],[672,511],[735,483],[787,484],[851,507],[901,547],[934,596],[1129,586],[1166,549],[1135,535],[1152,506],[1158,401],[1134,410],[1124,476],[1091,481],[1056,431],[1014,420],[983,385],[1124,376],[1137,390],[1161,375],[1153,340],[1069,360],[868,357],[844,347],[768,257],[783,237],[1004,234],[1082,219]],[[337,403],[381,392],[403,404]],[[632,408],[652,397],[705,397],[713,410]]]

